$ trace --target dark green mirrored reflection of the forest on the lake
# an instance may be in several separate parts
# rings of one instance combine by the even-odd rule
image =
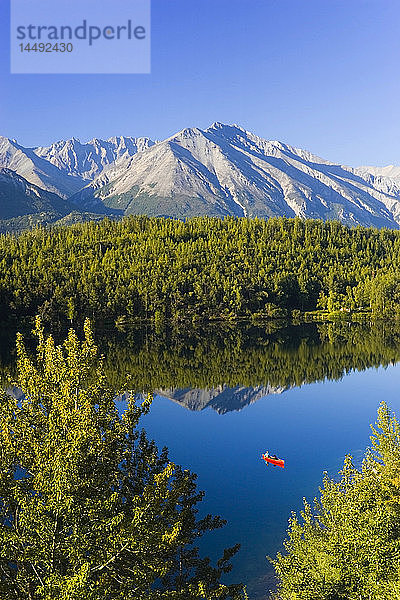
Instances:
[[[136,392],[160,389],[292,387],[324,379],[337,380],[355,369],[400,361],[400,323],[306,323],[278,328],[212,325],[155,331],[134,328],[124,333],[97,331],[110,385],[119,389],[129,375]],[[13,373],[10,348],[15,339],[0,339],[0,381]]]

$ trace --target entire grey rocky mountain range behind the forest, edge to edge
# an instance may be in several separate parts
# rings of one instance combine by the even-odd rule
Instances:
[[[0,169],[1,230],[107,214],[400,226],[400,166],[332,163],[239,125],[187,128],[162,141],[72,138],[34,148],[0,137]]]

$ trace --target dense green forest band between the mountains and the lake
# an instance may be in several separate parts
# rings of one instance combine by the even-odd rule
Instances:
[[[3,318],[400,315],[400,231],[286,219],[108,219],[0,236]]]

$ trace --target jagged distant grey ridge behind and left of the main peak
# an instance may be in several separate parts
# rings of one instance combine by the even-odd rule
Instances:
[[[130,158],[153,145],[152,140],[143,137],[117,136],[108,140],[94,138],[83,144],[72,138],[55,142],[47,148],[35,148],[34,152],[68,175],[91,181],[116,160]]]

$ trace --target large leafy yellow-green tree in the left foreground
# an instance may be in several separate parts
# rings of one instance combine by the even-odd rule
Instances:
[[[197,519],[195,476],[137,426],[151,399],[122,416],[90,324],[80,342],[17,338],[23,392],[0,403],[0,597],[9,600],[236,598],[193,543],[223,521]]]

